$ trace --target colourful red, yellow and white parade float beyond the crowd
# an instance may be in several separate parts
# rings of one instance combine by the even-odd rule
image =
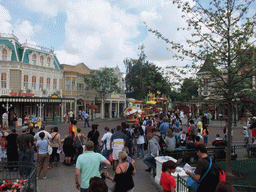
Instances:
[[[158,92],[160,95],[160,92]],[[155,96],[155,94],[149,93],[146,97],[146,101],[138,101],[135,99],[128,99],[128,107],[125,109],[124,115],[126,121],[134,121],[136,117],[152,117],[158,116],[160,111],[165,109],[165,103],[167,97]]]

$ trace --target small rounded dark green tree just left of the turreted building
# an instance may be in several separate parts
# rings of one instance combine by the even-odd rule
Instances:
[[[198,82],[192,78],[186,78],[181,85],[181,98],[184,100],[192,99],[192,96],[198,96]]]

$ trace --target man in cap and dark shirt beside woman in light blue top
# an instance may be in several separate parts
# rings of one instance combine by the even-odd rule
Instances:
[[[21,128],[22,133],[17,137],[17,146],[19,150],[19,174],[22,177],[24,174],[28,176],[30,174],[30,168],[28,166],[23,166],[26,162],[31,162],[31,148],[33,146],[34,138],[29,133],[29,127],[23,126]]]

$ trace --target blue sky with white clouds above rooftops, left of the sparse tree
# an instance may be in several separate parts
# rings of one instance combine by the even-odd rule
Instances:
[[[170,0],[0,0],[0,15],[0,33],[13,31],[20,43],[53,47],[61,64],[125,72],[123,60],[137,59],[141,45],[147,60],[160,67],[191,63],[173,58],[144,24],[185,42],[190,34],[177,31],[186,24]]]

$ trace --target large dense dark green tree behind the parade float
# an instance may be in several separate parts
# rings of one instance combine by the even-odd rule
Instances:
[[[170,83],[163,77],[161,68],[146,61],[144,46],[139,49],[141,53],[138,59],[127,58],[124,60],[127,97],[141,100],[149,92],[156,94],[157,91],[160,91],[162,94],[168,94],[170,92]]]

